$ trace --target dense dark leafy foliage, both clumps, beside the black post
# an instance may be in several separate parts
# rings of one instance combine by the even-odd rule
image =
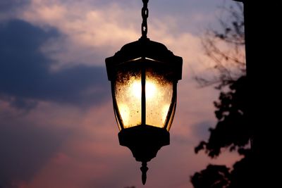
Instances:
[[[223,148],[237,151],[243,158],[233,165],[232,170],[225,165],[208,165],[205,170],[195,173],[191,177],[195,188],[251,187],[250,149],[245,148],[252,135],[245,115],[246,79],[245,76],[240,77],[231,84],[230,91],[221,92],[219,101],[214,102],[218,123],[215,128],[209,129],[209,140],[195,147],[196,153],[204,150],[211,158],[219,156]]]

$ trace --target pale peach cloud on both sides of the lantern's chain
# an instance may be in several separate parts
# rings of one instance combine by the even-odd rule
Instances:
[[[197,9],[201,4],[195,3]],[[181,1],[171,9],[171,2],[161,4],[151,2],[148,37],[154,41],[162,42],[178,56],[184,58],[183,75],[191,69],[198,72],[204,69],[199,63],[204,59],[200,32],[196,30],[195,23],[202,25],[212,18],[212,11],[182,11],[186,15],[178,14],[175,9],[191,8],[191,1]],[[121,6],[123,5],[123,6]],[[58,63],[52,65],[60,69],[66,65],[84,63],[87,65],[104,65],[104,58],[112,56],[121,46],[137,40],[141,35],[140,8],[142,2],[116,1],[44,1],[32,0],[30,6],[24,8],[21,18],[38,27],[55,27],[63,36],[56,40],[49,40],[42,49],[44,54]],[[204,6],[208,9],[207,5]],[[169,9],[170,11],[168,11]],[[191,8],[192,9],[192,8]],[[152,14],[151,14],[152,13]],[[157,15],[156,15],[157,14]],[[196,19],[200,18],[199,19]],[[182,29],[183,27],[190,29]],[[96,61],[93,61],[93,60]],[[205,59],[204,59],[205,60]]]

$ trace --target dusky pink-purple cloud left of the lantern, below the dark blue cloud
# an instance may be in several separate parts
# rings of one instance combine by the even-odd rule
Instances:
[[[5,105],[0,103],[0,122],[4,123],[0,148],[5,152],[0,166],[10,160],[0,169],[0,187],[125,187],[121,169],[136,171],[135,177],[140,177],[139,168],[131,166],[135,160],[130,151],[118,146],[110,101],[86,112],[40,103],[27,115],[3,115],[13,111]]]

